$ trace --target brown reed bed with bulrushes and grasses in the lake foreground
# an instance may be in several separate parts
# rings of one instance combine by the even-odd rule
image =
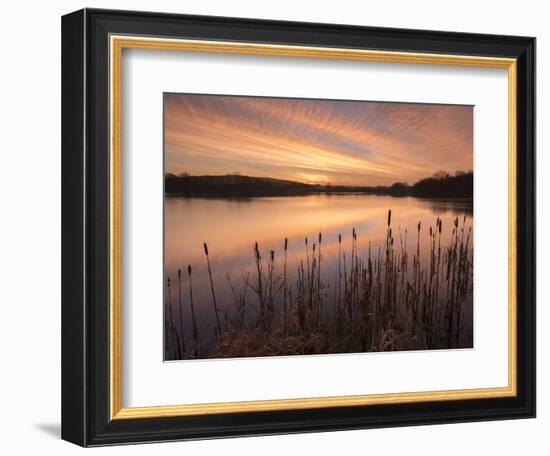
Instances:
[[[215,325],[212,331],[197,324],[193,265],[182,265],[166,277],[166,359],[472,347],[473,247],[466,216],[450,226],[440,218],[432,226],[418,222],[407,233],[392,227],[389,210],[385,225],[385,241],[376,246],[359,243],[353,228],[351,251],[339,234],[336,270],[324,275],[321,232],[304,238],[292,266],[286,238],[277,255],[252,242],[253,270],[238,280],[226,274],[224,283],[214,282],[215,252],[204,243],[211,300],[201,305]],[[450,238],[442,236],[445,230]],[[421,240],[429,242],[423,254]],[[216,299],[222,287],[233,298],[223,308]]]

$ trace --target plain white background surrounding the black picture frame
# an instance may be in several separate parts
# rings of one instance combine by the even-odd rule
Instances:
[[[0,449],[72,454],[60,429],[60,16],[88,7],[536,36],[538,81],[550,78],[544,2],[393,0],[103,0],[9,2],[0,25]],[[538,257],[550,256],[550,171],[542,128],[550,96],[538,84]],[[22,186],[21,177],[25,185]],[[538,265],[538,418],[102,448],[94,454],[545,454],[550,450],[550,266]],[[546,432],[545,432],[546,431]],[[546,450],[546,451],[545,451]]]

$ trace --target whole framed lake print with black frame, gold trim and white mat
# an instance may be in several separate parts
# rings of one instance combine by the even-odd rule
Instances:
[[[535,416],[535,40],[62,20],[62,437]]]

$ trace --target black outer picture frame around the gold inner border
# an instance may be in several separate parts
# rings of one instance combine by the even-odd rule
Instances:
[[[109,36],[517,59],[517,395],[110,419]],[[535,39],[84,9],[62,19],[62,438],[82,446],[535,416]]]

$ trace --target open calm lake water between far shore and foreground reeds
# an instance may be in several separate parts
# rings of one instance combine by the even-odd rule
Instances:
[[[180,321],[178,269],[182,271],[181,315],[186,339],[191,335],[189,283],[187,265],[192,266],[192,286],[197,326],[201,339],[214,334],[212,293],[203,250],[208,244],[212,279],[218,307],[234,308],[229,281],[241,290],[247,274],[251,281],[256,265],[254,244],[258,242],[263,258],[274,252],[275,274],[282,273],[284,239],[288,238],[287,270],[289,284],[296,279],[300,260],[306,258],[305,238],[309,254],[322,232],[322,281],[334,282],[338,268],[338,235],[342,235],[342,251],[351,251],[352,229],[357,233],[360,256],[367,257],[369,241],[373,254],[383,245],[386,236],[388,209],[392,211],[395,241],[407,250],[416,251],[417,224],[421,222],[421,256],[429,252],[429,228],[436,219],[443,221],[442,245],[450,241],[456,217],[466,217],[472,225],[471,202],[439,201],[412,197],[395,198],[372,195],[310,195],[296,197],[261,197],[242,199],[165,198],[165,274],[171,279],[172,318]],[[470,247],[473,245],[470,242]],[[318,248],[318,246],[317,246]],[[168,290],[165,290],[168,309]],[[330,292],[327,292],[329,295]],[[252,296],[251,296],[252,299]],[[330,297],[329,297],[330,299]],[[471,305],[470,305],[471,307]],[[166,317],[169,318],[169,311]],[[471,309],[470,309],[471,328]],[[166,347],[172,343],[166,338]],[[169,356],[167,356],[169,358]]]

